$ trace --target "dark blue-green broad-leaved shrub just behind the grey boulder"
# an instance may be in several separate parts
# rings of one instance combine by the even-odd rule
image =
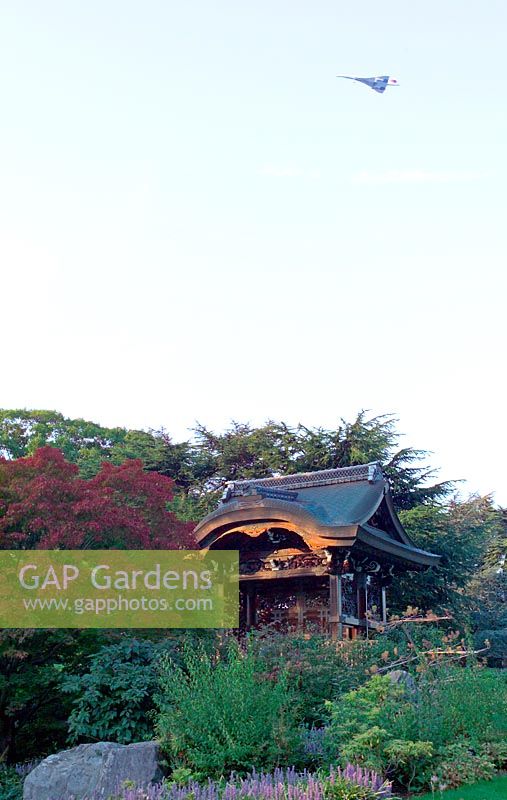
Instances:
[[[105,739],[130,744],[153,738],[157,663],[175,642],[125,638],[92,656],[89,671],[69,675],[63,691],[74,695],[69,740]]]

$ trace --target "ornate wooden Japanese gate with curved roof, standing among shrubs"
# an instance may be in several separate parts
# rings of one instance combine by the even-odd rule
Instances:
[[[195,530],[238,550],[240,625],[354,638],[386,621],[401,572],[439,562],[396,516],[378,463],[229,483]]]

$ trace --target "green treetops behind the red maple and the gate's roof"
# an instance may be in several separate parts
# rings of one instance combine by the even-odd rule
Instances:
[[[233,422],[223,433],[198,425],[193,441],[173,442],[164,430],[105,428],[56,411],[0,410],[0,454],[6,458],[30,456],[50,445],[77,464],[85,478],[96,475],[103,461],[120,465],[140,459],[146,470],[174,480],[174,510],[185,520],[207,513],[226,481],[368,461],[383,464],[399,509],[445,497],[451,484],[432,483],[434,472],[422,463],[425,452],[400,448],[399,440],[392,415],[368,417],[365,411],[334,429]]]

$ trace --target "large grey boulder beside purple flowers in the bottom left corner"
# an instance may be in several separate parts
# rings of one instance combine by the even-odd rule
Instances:
[[[156,742],[81,744],[45,758],[30,772],[23,800],[107,800],[124,781],[136,786],[162,779]]]

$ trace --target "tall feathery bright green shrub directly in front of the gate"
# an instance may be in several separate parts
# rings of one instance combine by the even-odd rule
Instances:
[[[301,732],[287,676],[259,680],[251,651],[184,648],[183,664],[162,662],[157,731],[173,766],[202,776],[295,763]]]

